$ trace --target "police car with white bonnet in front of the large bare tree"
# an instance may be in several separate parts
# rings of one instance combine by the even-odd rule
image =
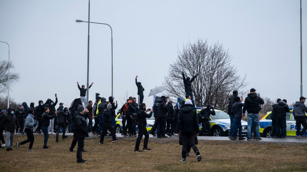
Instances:
[[[197,113],[206,107],[196,107]],[[211,136],[228,136],[230,132],[230,117],[229,115],[221,110],[215,109],[216,115],[210,115],[210,126],[211,126]],[[242,125],[242,135],[247,134],[247,122],[241,120]],[[199,130],[202,130],[202,125],[199,124]]]

